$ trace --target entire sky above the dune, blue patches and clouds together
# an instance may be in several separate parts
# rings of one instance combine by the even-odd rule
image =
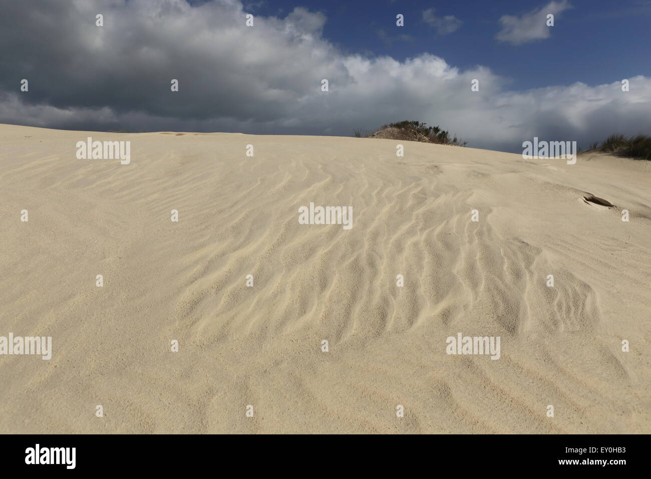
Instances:
[[[469,147],[587,148],[651,134],[649,25],[651,0],[0,0],[0,123],[352,136],[418,120]]]

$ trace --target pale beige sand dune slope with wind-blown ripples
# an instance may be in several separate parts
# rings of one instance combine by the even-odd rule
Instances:
[[[396,143],[1,125],[0,432],[650,433],[649,162]]]

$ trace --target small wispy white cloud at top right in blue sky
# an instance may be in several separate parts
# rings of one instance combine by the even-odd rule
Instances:
[[[497,40],[512,45],[521,45],[549,38],[553,27],[547,27],[547,15],[553,14],[555,21],[556,16],[568,8],[572,8],[568,0],[554,0],[519,17],[505,15],[499,19],[502,29],[497,33]]]

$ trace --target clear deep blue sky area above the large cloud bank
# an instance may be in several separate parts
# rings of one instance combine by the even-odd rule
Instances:
[[[513,89],[610,83],[651,76],[651,1],[571,0],[555,18],[551,36],[518,46],[499,42],[503,15],[526,14],[546,5],[538,0],[458,1],[252,1],[245,10],[285,16],[294,7],[324,12],[324,37],[344,51],[389,55],[400,61],[421,53],[443,57],[459,68],[486,65],[512,79]],[[454,16],[461,26],[447,35],[424,22],[422,12]],[[396,26],[396,14],[404,27]],[[384,36],[381,36],[382,33]]]

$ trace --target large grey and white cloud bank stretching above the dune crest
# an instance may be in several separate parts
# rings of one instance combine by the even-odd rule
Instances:
[[[620,79],[508,91],[489,68],[460,70],[428,53],[404,62],[343,53],[322,36],[326,16],[305,8],[255,17],[253,27],[234,0],[35,0],[3,10],[0,123],[352,136],[418,119],[471,147],[514,152],[534,136],[588,145],[651,130],[648,78],[630,78],[627,93]]]

